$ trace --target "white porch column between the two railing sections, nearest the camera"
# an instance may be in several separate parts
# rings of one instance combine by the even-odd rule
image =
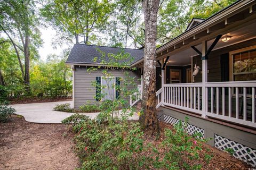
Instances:
[[[205,56],[205,53],[207,52],[207,42],[203,41],[202,42],[202,56]],[[207,82],[207,73],[208,73],[208,68],[207,68],[207,58],[204,58],[204,60],[202,60],[202,117],[206,118],[206,105],[208,105],[206,102],[206,100],[208,101],[208,99],[206,99],[206,88],[205,88],[205,82]]]

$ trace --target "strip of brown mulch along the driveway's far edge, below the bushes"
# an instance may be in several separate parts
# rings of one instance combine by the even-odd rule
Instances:
[[[72,97],[54,97],[54,98],[46,98],[46,97],[18,97],[18,98],[10,98],[10,104],[27,104],[27,103],[45,103],[45,102],[54,102],[54,101],[71,101]]]

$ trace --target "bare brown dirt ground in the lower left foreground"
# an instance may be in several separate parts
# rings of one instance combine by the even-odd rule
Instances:
[[[65,125],[29,123],[12,115],[0,123],[0,169],[75,169],[72,135]]]

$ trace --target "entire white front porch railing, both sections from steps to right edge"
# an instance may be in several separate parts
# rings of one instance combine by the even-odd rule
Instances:
[[[205,96],[202,96],[203,88]],[[206,82],[205,86],[203,83],[163,84],[164,100],[161,102],[162,105],[255,128],[255,88],[256,81]],[[202,109],[203,100],[205,110]],[[161,102],[157,100],[158,105]]]

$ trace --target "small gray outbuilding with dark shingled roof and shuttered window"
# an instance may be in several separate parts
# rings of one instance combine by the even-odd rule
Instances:
[[[86,103],[93,104],[97,102],[95,96],[97,95],[98,89],[92,85],[93,81],[97,81],[99,84],[102,85],[107,83],[119,83],[121,86],[124,82],[122,79],[120,79],[119,81],[119,78],[125,78],[125,73],[123,70],[110,70],[111,75],[114,78],[109,78],[109,80],[102,78],[102,68],[99,68],[97,70],[90,70],[91,67],[98,67],[104,65],[101,60],[102,53],[106,55],[106,62],[113,59],[109,58],[108,54],[130,54],[130,57],[133,58],[132,61],[117,61],[127,62],[129,64],[133,64],[144,56],[144,52],[141,49],[75,44],[74,47],[71,49],[71,52],[66,61],[67,64],[72,65],[73,69],[73,106],[75,108],[79,108],[79,106]],[[98,57],[97,60],[95,60],[95,57]],[[139,70],[127,71],[130,73],[131,77],[135,77],[137,79],[138,84],[141,83],[139,80],[141,78]],[[134,87],[130,85],[127,88],[131,89]],[[106,94],[107,95],[101,100],[113,99],[117,97],[118,92],[116,89],[109,88]],[[127,98],[127,100],[129,99]]]

